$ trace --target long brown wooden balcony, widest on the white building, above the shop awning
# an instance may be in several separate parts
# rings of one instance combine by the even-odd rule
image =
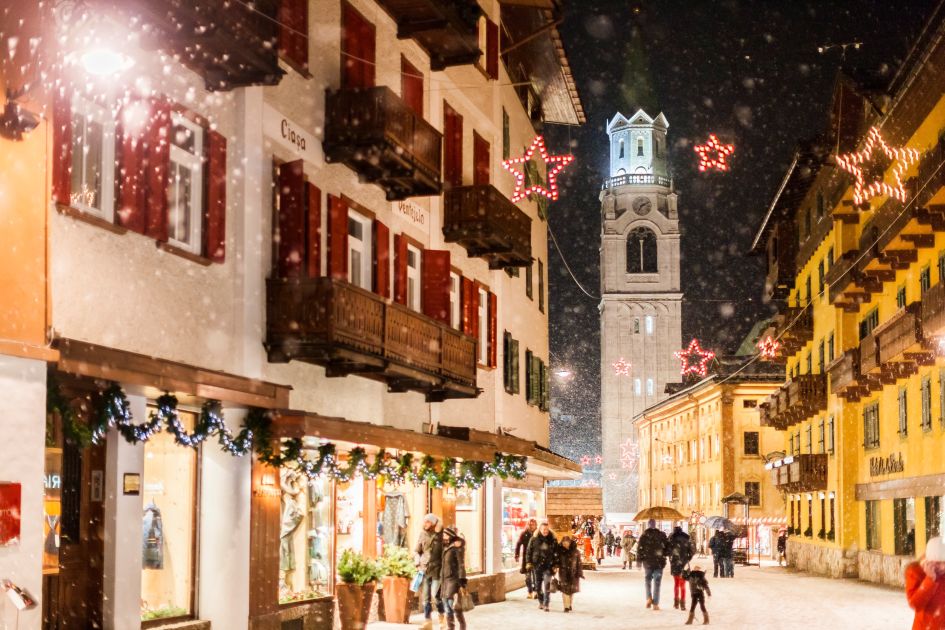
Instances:
[[[479,395],[475,339],[348,282],[270,278],[266,310],[273,363],[305,361],[431,402]]]

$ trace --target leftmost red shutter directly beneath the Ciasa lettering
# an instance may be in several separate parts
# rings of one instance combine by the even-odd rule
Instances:
[[[279,238],[276,268],[280,278],[302,275],[305,255],[305,174],[302,160],[279,167]]]

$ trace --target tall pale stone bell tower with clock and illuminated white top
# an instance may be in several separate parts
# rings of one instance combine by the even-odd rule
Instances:
[[[607,123],[610,173],[601,201],[601,426],[604,509],[635,513],[639,449],[633,418],[679,381],[679,216],[663,114]],[[632,514],[631,514],[632,515]]]

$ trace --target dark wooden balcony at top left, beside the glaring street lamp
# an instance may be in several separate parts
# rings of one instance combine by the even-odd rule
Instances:
[[[277,0],[95,0],[127,16],[145,48],[162,50],[204,78],[208,90],[275,85],[279,68]]]

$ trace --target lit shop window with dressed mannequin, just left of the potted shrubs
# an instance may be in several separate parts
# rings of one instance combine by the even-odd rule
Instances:
[[[279,482],[279,603],[330,595],[334,581],[331,481],[327,477],[309,479],[298,470],[281,468]]]

